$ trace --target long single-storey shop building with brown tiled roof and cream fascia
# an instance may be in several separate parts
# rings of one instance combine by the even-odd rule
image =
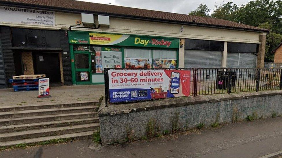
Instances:
[[[0,0],[0,10],[2,88],[39,72],[71,85],[103,83],[106,67],[264,66],[268,30],[227,20],[73,0]]]

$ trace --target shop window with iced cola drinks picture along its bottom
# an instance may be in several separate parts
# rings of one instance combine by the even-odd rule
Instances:
[[[125,68],[151,68],[151,50],[125,49]]]

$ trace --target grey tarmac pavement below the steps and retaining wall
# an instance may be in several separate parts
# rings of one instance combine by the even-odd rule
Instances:
[[[260,157],[282,150],[282,117],[94,148],[91,140],[0,152],[0,157]]]

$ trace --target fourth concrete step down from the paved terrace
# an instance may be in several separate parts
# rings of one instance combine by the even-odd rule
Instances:
[[[83,119],[70,119],[70,120],[0,126],[0,133],[20,132],[20,131],[35,130],[35,129],[38,130],[43,128],[73,126],[73,125],[81,125],[81,124],[89,124],[89,123],[99,123],[99,118],[92,117],[92,118],[83,118]]]

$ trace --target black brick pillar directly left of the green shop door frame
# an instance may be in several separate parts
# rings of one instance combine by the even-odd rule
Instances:
[[[60,44],[62,48],[62,64],[63,64],[63,76],[64,85],[73,84],[71,78],[71,66],[70,66],[70,47],[68,44],[68,36],[66,35],[66,30],[60,30]],[[64,54],[63,52],[67,52]]]

